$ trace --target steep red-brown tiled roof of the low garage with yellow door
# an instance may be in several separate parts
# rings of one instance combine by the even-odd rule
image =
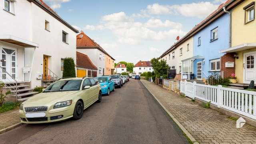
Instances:
[[[80,52],[76,52],[76,66],[97,70],[97,67],[94,66],[90,58]]]

